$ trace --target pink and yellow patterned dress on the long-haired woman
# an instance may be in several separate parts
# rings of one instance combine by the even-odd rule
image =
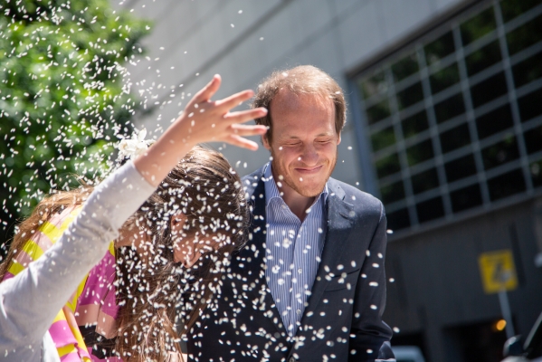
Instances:
[[[43,223],[24,243],[23,249],[16,253],[4,281],[13,278],[30,262],[41,257],[43,252],[56,243],[80,211],[81,207],[70,207]],[[115,249],[111,243],[109,251],[81,281],[49,329],[62,362],[122,361],[119,357],[112,357],[111,353],[114,338],[117,337],[116,318],[119,312],[113,285],[115,276]],[[102,338],[109,340],[108,348],[100,347]]]

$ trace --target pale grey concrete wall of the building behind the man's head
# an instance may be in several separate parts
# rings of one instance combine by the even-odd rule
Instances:
[[[152,34],[143,42],[148,60],[138,60],[129,71],[132,90],[144,90],[141,98],[147,97],[147,108],[157,105],[135,121],[149,131],[158,124],[166,127],[183,109],[188,94],[199,90],[214,73],[223,76],[217,99],[236,90],[255,89],[271,71],[300,64],[327,71],[347,91],[348,71],[458,3],[461,1],[125,0],[120,6],[155,22]],[[342,138],[334,176],[356,185],[362,178],[351,120]],[[255,153],[232,147],[221,150],[232,164],[241,161],[242,175],[269,159],[263,148]]]

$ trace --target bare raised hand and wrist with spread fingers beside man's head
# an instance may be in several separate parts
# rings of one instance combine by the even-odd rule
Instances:
[[[260,118],[267,110],[258,108],[230,113],[242,101],[254,94],[243,90],[223,100],[211,100],[220,88],[221,78],[215,75],[204,89],[198,91],[188,102],[183,114],[148,148],[147,152],[134,160],[134,165],[147,181],[158,184],[176,163],[198,143],[226,142],[234,146],[255,150],[258,144],[246,136],[262,135],[264,126],[242,125],[251,119]]]

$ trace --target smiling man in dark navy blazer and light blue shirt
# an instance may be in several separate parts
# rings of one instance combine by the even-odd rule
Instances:
[[[346,103],[337,82],[277,71],[254,107],[269,113],[271,162],[242,179],[249,240],[188,334],[195,361],[395,360],[385,309],[382,203],[330,178]],[[272,120],[271,120],[272,119]]]

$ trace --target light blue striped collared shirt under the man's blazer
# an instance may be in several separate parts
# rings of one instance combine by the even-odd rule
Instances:
[[[328,185],[300,219],[290,211],[265,167],[265,279],[290,337],[296,335],[318,271],[327,232]]]

